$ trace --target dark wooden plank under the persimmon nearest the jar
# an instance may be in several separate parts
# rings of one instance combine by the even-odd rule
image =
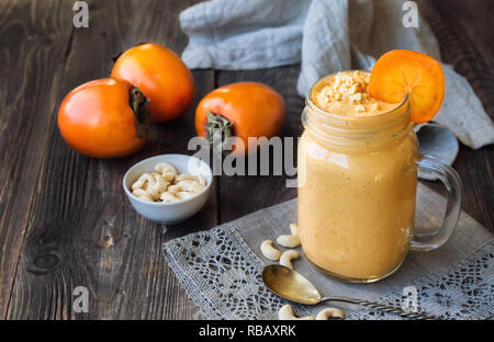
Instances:
[[[287,103],[287,121],[281,137],[299,137],[304,100],[296,93],[300,66],[263,70],[217,71],[216,86],[257,81],[276,89]],[[296,142],[295,142],[296,149]],[[259,155],[259,152],[258,152]],[[296,196],[296,189],[285,186],[287,175],[222,175],[218,181],[218,208],[222,223]]]

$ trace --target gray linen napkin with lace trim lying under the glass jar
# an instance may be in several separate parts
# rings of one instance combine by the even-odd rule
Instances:
[[[415,231],[429,233],[442,223],[445,198],[419,184]],[[259,250],[296,223],[296,198],[251,213],[211,230],[164,243],[164,255],[188,296],[206,319],[273,319],[285,304],[261,283],[270,264]],[[408,286],[416,289],[418,309],[445,319],[485,319],[494,312],[493,235],[462,212],[458,228],[441,248],[411,252],[392,276],[373,284],[348,284],[327,277],[305,258],[301,248],[294,269],[323,295],[378,300],[400,307]],[[277,248],[280,248],[276,244]],[[284,250],[280,248],[281,250]],[[409,287],[408,287],[409,288]],[[340,303],[316,307],[295,306],[299,315],[315,316],[323,307],[345,309],[350,319],[396,319]]]

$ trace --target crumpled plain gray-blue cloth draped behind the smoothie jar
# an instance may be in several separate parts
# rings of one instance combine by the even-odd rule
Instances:
[[[437,41],[418,16],[418,27],[403,24],[404,0],[212,0],[180,14],[189,45],[182,58],[190,68],[259,69],[301,62],[300,95],[321,77],[348,69],[370,70],[394,48],[423,52],[440,59]],[[494,125],[469,82],[444,65],[445,102],[435,122],[471,147],[494,144]],[[441,129],[422,137],[440,142],[438,152],[452,162],[457,144]],[[420,144],[424,138],[420,139]],[[436,153],[436,155],[435,155]],[[447,156],[446,158],[442,158]]]

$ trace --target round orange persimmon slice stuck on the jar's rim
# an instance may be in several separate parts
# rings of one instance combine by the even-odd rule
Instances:
[[[398,103],[409,94],[412,122],[430,121],[445,98],[445,71],[430,56],[396,49],[379,58],[369,80],[369,95]]]

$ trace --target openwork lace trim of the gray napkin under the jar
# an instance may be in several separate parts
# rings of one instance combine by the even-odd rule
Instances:
[[[164,255],[188,296],[206,319],[277,319],[285,304],[267,289],[265,263],[228,224],[164,243]],[[452,269],[412,284],[419,311],[444,319],[485,319],[494,314],[494,247],[484,246]],[[402,293],[381,304],[401,306]],[[294,306],[295,314],[310,311]],[[378,310],[355,309],[349,319],[401,319]]]

